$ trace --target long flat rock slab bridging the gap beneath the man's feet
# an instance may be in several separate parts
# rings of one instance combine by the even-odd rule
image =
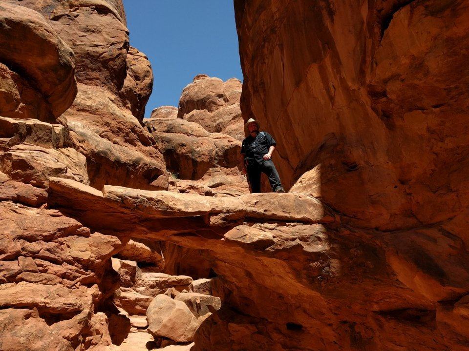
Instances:
[[[80,210],[77,215],[85,221],[99,218],[93,222],[107,229],[122,230],[126,227],[124,223],[131,226],[132,222],[147,219],[200,216],[206,216],[210,226],[239,223],[247,218],[303,223],[331,223],[335,219],[318,199],[305,194],[266,193],[220,198],[109,185],[99,192],[77,181],[56,177],[50,178],[49,185],[50,205]]]

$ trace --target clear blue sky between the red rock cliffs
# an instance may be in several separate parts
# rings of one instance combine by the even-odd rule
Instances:
[[[182,89],[205,73],[242,80],[233,0],[124,0],[130,45],[153,67],[153,108],[177,106]]]

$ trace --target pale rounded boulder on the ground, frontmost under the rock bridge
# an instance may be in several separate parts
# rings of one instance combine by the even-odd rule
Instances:
[[[158,295],[147,310],[148,331],[153,337],[167,337],[176,342],[189,342],[194,338],[197,319],[182,301]]]

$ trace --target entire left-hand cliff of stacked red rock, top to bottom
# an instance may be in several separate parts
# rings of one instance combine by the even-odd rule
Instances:
[[[1,1],[0,23],[0,349],[103,350],[130,328],[110,261],[128,238],[50,209],[47,188],[168,189],[140,124],[151,67],[121,0]]]

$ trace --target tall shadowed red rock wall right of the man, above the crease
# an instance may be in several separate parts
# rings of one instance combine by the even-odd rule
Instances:
[[[466,1],[236,0],[235,9],[242,110],[279,139],[287,188],[317,167],[312,193],[369,228],[464,210]]]

